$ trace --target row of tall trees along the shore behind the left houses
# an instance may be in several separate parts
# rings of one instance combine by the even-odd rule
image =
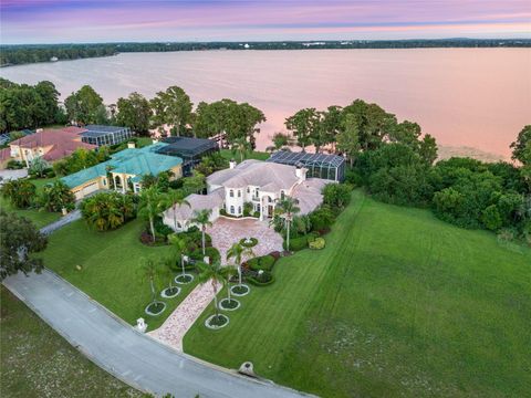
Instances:
[[[229,144],[253,148],[258,125],[266,122],[262,111],[228,98],[200,102],[194,108],[189,95],[178,86],[160,91],[153,98],[135,92],[110,105],[90,85],[69,95],[64,105],[51,82],[31,86],[2,78],[0,90],[1,132],[72,122],[125,126],[140,136],[148,136],[150,129],[158,129],[163,136],[222,135]]]

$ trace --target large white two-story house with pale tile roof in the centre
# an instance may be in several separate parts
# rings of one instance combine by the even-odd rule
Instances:
[[[233,217],[243,216],[243,205],[250,202],[260,213],[260,220],[274,214],[277,202],[285,196],[299,200],[300,214],[313,211],[323,200],[321,190],[330,180],[308,178],[306,169],[261,160],[244,160],[239,165],[216,171],[207,178],[208,195],[190,195],[190,206],[170,208],[164,212],[164,222],[177,231],[191,227],[195,210],[211,209],[211,221],[220,210]],[[177,227],[177,228],[176,228]]]

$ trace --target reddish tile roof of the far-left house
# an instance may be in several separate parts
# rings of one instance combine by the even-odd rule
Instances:
[[[64,127],[54,129],[44,129],[35,134],[19,138],[10,145],[19,145],[22,148],[52,147],[42,157],[45,160],[53,161],[71,155],[77,148],[95,149],[96,145],[81,142],[80,133],[86,132],[80,127]]]

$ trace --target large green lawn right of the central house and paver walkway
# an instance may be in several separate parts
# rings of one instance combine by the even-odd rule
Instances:
[[[185,352],[323,397],[521,397],[531,386],[531,250],[362,192],[322,251],[281,259]]]

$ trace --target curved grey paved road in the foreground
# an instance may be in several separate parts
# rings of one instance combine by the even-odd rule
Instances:
[[[74,347],[128,385],[176,397],[301,397],[272,383],[200,362],[136,332],[83,292],[44,270],[3,284]]]

